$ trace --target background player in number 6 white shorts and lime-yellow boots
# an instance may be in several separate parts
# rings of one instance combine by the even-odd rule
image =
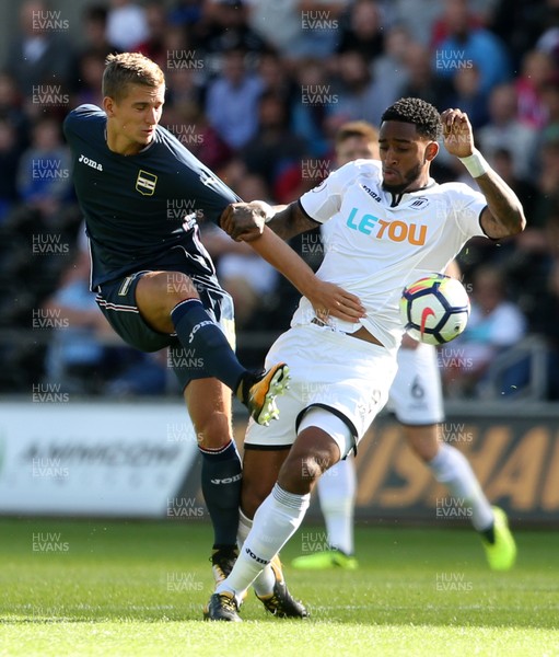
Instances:
[[[358,159],[379,160],[379,131],[366,122],[342,125],[335,140],[336,166]],[[329,222],[322,227],[327,249]],[[458,267],[451,263],[446,274],[456,278]],[[441,376],[435,347],[404,335],[398,349],[398,371],[391,388],[387,407],[403,425],[404,437],[412,451],[444,484],[461,506],[468,510],[474,529],[480,532],[489,566],[506,570],[514,564],[516,546],[506,518],[491,505],[466,457],[455,447],[442,441],[444,419]],[[358,567],[354,556],[353,510],[357,477],[354,460],[341,460],[322,476],[317,484],[321,509],[326,521],[329,550],[298,556],[292,566],[301,569]],[[458,503],[457,503],[458,504]]]

